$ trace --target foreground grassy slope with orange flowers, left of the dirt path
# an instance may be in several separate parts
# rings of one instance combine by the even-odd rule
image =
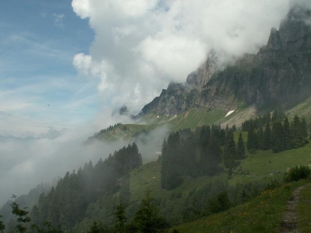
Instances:
[[[287,201],[295,188],[310,181],[284,184],[256,199],[176,227],[181,233],[273,233],[282,221]],[[310,210],[309,210],[310,211]]]

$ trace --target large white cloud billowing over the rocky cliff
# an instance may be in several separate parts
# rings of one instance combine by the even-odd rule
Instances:
[[[184,82],[209,51],[222,61],[257,52],[289,0],[72,0],[72,8],[95,32],[73,65],[99,79],[104,99],[137,112],[169,82]]]

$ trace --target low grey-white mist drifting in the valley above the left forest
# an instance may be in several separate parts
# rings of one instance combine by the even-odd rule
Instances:
[[[106,119],[106,120],[104,120]],[[115,122],[113,120],[116,120]],[[105,123],[102,123],[102,122]],[[0,206],[12,194],[22,195],[41,182],[52,182],[67,171],[77,170],[88,161],[95,164],[110,153],[132,143],[133,140],[93,140],[85,143],[93,133],[116,122],[132,123],[125,116],[98,115],[78,129],[63,130],[57,137],[18,138],[0,137]],[[162,126],[135,138],[143,163],[156,160],[163,138],[169,128]]]

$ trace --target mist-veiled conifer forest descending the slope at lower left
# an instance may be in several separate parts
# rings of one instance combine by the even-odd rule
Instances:
[[[117,181],[141,164],[138,147],[133,143],[110,154],[104,161],[100,159],[95,166],[89,162],[77,172],[67,172],[49,194],[39,196],[38,204],[30,213],[33,221],[39,225],[49,221],[63,229],[72,228],[85,217],[89,203],[107,192],[119,191]]]

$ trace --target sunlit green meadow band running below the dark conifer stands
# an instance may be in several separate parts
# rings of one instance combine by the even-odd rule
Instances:
[[[247,133],[243,133],[244,141],[246,141],[246,137]],[[235,133],[235,140],[237,139],[238,133]],[[247,152],[246,158],[240,161],[239,166],[241,166],[243,170],[249,170],[250,173],[248,175],[233,174],[232,179],[229,180],[229,184],[234,185],[238,182],[245,183],[256,180],[270,181],[271,178],[281,179],[287,167],[307,164],[311,164],[311,143],[302,148],[286,150],[280,153],[273,153],[271,150],[257,151],[254,154],[249,154]],[[158,162],[151,162],[131,172],[131,200],[141,200],[147,188],[152,190],[155,198],[167,197],[173,192],[188,194],[192,188],[202,187],[213,179],[227,179],[225,171],[213,177],[203,176],[196,179],[188,177],[178,188],[172,191],[166,191],[161,188],[160,184],[160,166]],[[277,171],[279,171],[279,173],[277,173]]]

